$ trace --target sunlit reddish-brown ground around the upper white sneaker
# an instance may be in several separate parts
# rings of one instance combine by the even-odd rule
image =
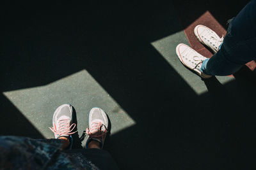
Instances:
[[[205,46],[202,45],[195,37],[194,28],[196,25],[205,25],[215,31],[220,37],[225,36],[227,31],[220,25],[220,23],[211,15],[209,11],[206,11],[201,17],[195,20],[195,22],[193,22],[184,30],[191,48],[196,50],[196,52],[204,55],[205,57],[210,58],[212,53],[207,50],[207,48],[205,48]],[[256,67],[256,62],[253,60],[248,62],[246,66],[248,66],[253,71]]]

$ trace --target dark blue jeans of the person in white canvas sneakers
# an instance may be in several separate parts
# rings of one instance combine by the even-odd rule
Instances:
[[[236,73],[256,59],[256,0],[250,1],[228,25],[220,50],[204,60],[201,71],[212,76]]]

